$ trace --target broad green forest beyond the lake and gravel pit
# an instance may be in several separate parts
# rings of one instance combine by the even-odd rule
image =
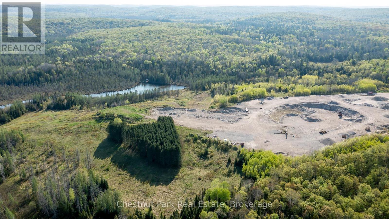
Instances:
[[[102,18],[46,23],[45,55],[0,57],[0,100],[117,90],[146,79],[193,90],[305,75],[318,76],[317,85],[364,78],[388,83],[389,28],[379,23],[305,12],[207,24]]]

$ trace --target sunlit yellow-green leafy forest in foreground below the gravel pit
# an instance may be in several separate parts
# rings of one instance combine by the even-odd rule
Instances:
[[[235,161],[245,174],[240,187],[214,180],[195,197],[195,206],[171,217],[388,218],[388,141],[387,135],[358,137],[294,158],[242,149]],[[234,207],[232,202],[258,205]]]

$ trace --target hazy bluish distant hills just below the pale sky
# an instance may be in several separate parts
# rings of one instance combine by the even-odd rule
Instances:
[[[231,19],[270,14],[277,12],[306,12],[333,16],[350,21],[374,22],[388,24],[388,9],[352,9],[339,7],[255,7],[255,6],[231,6],[231,7],[195,7],[173,5],[93,5],[85,8],[78,5],[47,5],[48,18],[58,16],[70,17],[103,17],[147,19],[163,21],[186,21],[192,23],[209,23],[228,21]]]

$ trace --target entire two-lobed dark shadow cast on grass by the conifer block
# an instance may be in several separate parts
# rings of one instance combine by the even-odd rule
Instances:
[[[127,171],[137,180],[148,182],[150,185],[168,185],[180,171],[180,167],[162,167],[149,162],[146,157],[140,157],[137,152],[128,147],[120,147],[109,138],[105,138],[98,145],[93,156],[95,159],[106,159],[112,156],[111,162],[114,165]]]

